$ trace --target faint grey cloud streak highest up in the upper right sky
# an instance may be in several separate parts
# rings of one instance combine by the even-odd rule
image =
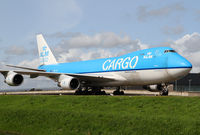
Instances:
[[[174,12],[182,12],[185,8],[181,3],[176,3],[161,7],[159,9],[149,9],[149,7],[141,6],[138,9],[137,19],[139,21],[146,21],[151,17],[166,17]]]

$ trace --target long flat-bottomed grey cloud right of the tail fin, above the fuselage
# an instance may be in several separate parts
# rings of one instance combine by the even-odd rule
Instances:
[[[113,32],[97,33],[93,36],[80,34],[69,40],[62,40],[59,45],[68,48],[112,48],[113,46],[128,45],[132,40],[129,36],[119,36]]]

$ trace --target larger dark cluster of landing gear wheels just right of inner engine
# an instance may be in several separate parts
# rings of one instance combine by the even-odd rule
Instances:
[[[79,88],[74,95],[107,95],[105,91],[102,91],[100,87],[85,87],[84,89]]]

